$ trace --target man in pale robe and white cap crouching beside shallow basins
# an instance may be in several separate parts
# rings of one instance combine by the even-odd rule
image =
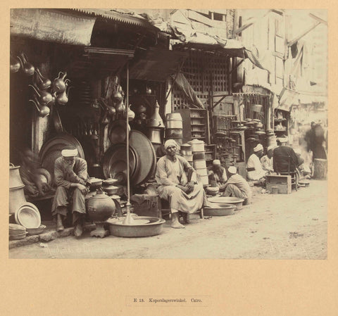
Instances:
[[[225,192],[223,196],[234,196],[236,198],[244,198],[244,205],[251,203],[251,188],[249,183],[242,175],[237,174],[236,167],[229,167],[229,179],[225,184]]]

